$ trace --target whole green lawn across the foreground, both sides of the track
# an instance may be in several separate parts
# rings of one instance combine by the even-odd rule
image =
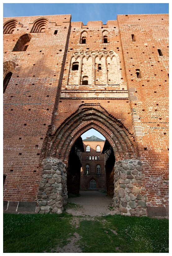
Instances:
[[[88,216],[89,217],[89,216]],[[167,219],[107,215],[4,214],[4,253],[51,253],[74,233],[83,253],[168,253]],[[76,218],[79,225],[75,226]],[[73,220],[73,221],[72,221]]]

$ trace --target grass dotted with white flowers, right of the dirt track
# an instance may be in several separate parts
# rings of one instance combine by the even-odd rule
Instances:
[[[78,243],[83,253],[168,253],[168,223],[118,214],[81,220]]]

